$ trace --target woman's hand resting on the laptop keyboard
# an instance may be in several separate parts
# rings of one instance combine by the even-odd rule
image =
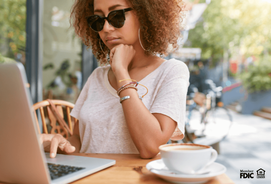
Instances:
[[[58,148],[67,154],[75,151],[75,147],[60,134],[40,134],[40,141],[44,151],[50,152],[51,158],[55,157]]]

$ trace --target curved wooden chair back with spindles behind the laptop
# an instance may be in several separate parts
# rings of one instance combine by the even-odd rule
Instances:
[[[33,105],[36,123],[39,124],[37,118],[37,110],[39,109],[43,133],[48,134],[48,132],[50,132],[51,134],[61,134],[65,138],[68,138],[73,132],[74,123],[77,121],[76,118],[70,116],[70,111],[73,109],[74,104],[64,100],[51,100],[51,102],[55,105],[61,118],[67,122],[66,127],[68,127],[69,130],[58,121],[58,117],[56,117],[54,109],[51,107],[48,100],[43,100]]]

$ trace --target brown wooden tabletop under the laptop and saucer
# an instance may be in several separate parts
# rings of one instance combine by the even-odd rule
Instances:
[[[160,154],[152,159],[141,159],[139,154],[86,154],[74,153],[72,155],[96,157],[116,160],[114,166],[108,167],[97,173],[86,176],[71,184],[169,184],[146,169],[146,164],[152,160],[161,159]],[[226,174],[216,176],[206,184],[234,184]]]

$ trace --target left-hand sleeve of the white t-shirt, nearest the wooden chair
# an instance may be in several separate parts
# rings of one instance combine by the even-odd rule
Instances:
[[[84,102],[86,101],[86,98],[87,98],[87,95],[88,95],[89,83],[90,83],[90,80],[91,80],[91,76],[92,75],[89,76],[86,84],[84,85],[83,89],[81,90],[80,95],[79,95],[78,99],[76,100],[76,103],[75,103],[75,105],[74,105],[74,107],[73,107],[73,109],[72,109],[72,111],[70,113],[70,116],[73,116],[76,119],[79,119],[80,110],[81,110]]]

